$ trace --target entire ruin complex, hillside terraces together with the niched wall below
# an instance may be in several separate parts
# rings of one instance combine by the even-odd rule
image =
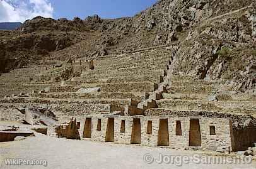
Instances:
[[[232,91],[218,92],[221,87],[216,82],[173,74],[177,50],[177,46],[160,46],[122,58],[98,57],[93,70],[92,62],[74,62],[73,69],[83,67],[83,71],[64,80],[65,85],[50,81],[59,77],[62,68],[40,70],[37,80],[18,84],[19,89],[30,85],[33,90],[48,87],[47,92],[5,97],[0,108],[33,107],[34,111],[23,110],[26,121],[44,124],[47,131],[41,133],[57,138],[222,153],[247,150],[256,142],[256,120],[238,114],[256,112],[255,101],[235,99]],[[26,68],[22,73],[35,70]],[[57,112],[59,120],[35,111],[42,109]]]

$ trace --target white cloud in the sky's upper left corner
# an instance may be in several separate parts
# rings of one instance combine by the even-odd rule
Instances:
[[[35,16],[52,18],[53,11],[48,0],[0,0],[0,22],[23,22]]]

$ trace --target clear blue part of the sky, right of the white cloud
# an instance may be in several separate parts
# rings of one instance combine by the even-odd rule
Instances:
[[[101,18],[120,18],[133,16],[156,0],[51,0],[54,7],[54,18],[73,19],[74,16],[86,18],[98,14]]]

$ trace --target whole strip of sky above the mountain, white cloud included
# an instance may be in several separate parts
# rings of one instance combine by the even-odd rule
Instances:
[[[157,0],[0,0],[0,22],[23,22],[35,16],[81,19],[98,14],[101,18],[134,16]]]

